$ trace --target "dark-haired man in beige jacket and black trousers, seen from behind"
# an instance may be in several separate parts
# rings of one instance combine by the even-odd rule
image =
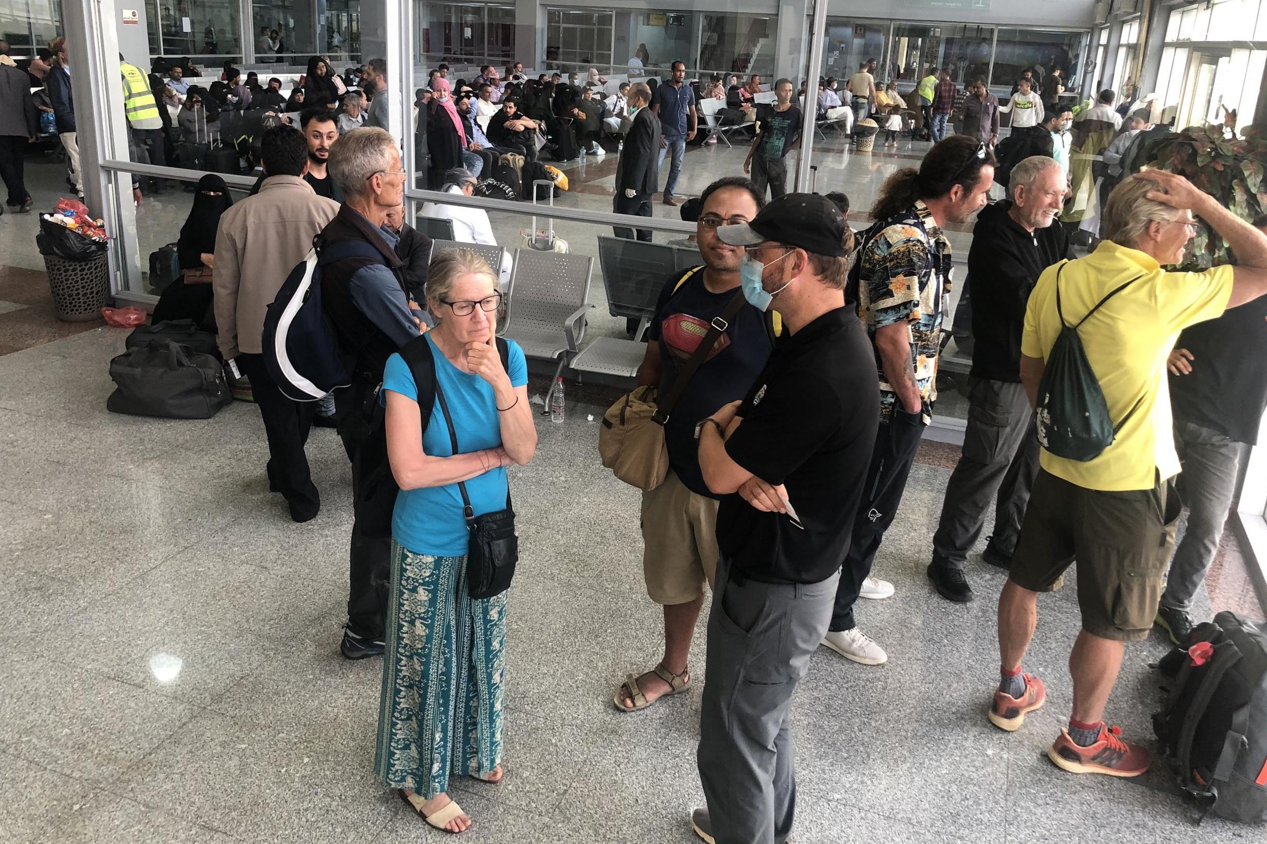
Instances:
[[[251,379],[255,403],[269,438],[269,489],[280,492],[290,517],[307,522],[321,511],[321,496],[308,471],[304,444],[315,402],[281,394],[264,365],[264,316],[286,276],[304,260],[313,237],[338,213],[338,203],[318,196],[304,181],[308,143],[290,127],[264,134],[267,177],[220,217],[215,232],[215,324],[224,360]]]

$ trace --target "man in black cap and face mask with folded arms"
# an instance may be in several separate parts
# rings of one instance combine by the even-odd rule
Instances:
[[[791,336],[742,402],[696,428],[704,483],[725,498],[699,720],[708,809],[692,825],[707,841],[773,844],[796,802],[792,693],[831,620],[879,395],[845,304],[853,234],[836,205],[786,194],[717,233],[746,247],[744,295],[760,310],[777,298]]]

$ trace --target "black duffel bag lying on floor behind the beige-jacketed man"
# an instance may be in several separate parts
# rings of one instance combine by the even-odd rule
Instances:
[[[136,346],[110,361],[111,413],[208,419],[233,400],[220,361],[169,341]]]

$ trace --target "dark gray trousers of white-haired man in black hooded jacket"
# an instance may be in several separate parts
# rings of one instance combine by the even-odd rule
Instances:
[[[968,427],[963,454],[946,483],[941,520],[933,536],[933,561],[962,569],[981,536],[995,499],[993,550],[1011,556],[1030,487],[1038,475],[1038,436],[1025,388],[1010,381],[968,381]]]

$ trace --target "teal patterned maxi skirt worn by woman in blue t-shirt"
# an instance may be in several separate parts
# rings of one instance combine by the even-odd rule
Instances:
[[[471,601],[465,556],[392,542],[374,773],[426,798],[502,760],[506,596]]]

